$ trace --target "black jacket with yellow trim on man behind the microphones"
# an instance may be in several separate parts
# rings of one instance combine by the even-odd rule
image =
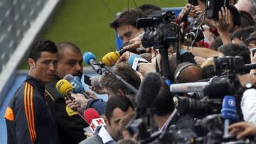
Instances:
[[[55,89],[58,80],[60,78],[55,75],[53,81],[46,85],[46,101],[57,123],[60,143],[79,143],[86,138],[83,128],[88,125],[78,113],[66,106],[64,96]]]

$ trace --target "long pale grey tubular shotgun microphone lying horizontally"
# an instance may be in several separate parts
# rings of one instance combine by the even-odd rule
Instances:
[[[171,92],[203,92],[206,86],[208,86],[208,82],[188,82],[181,84],[171,84],[170,90]]]

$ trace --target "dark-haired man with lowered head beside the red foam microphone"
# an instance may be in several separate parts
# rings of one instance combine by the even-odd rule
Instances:
[[[112,96],[107,101],[105,109],[104,121],[107,127],[102,127],[99,134],[83,140],[80,144],[112,144],[114,141],[121,140],[122,134],[119,128],[119,121],[132,112],[134,112],[134,107],[126,96]],[[107,131],[107,133],[101,135],[101,131]],[[102,136],[107,137],[108,140],[102,138]]]

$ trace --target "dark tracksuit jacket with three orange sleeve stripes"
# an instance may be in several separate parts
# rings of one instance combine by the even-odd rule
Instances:
[[[59,143],[44,91],[38,80],[28,76],[11,98],[4,116],[8,143]]]

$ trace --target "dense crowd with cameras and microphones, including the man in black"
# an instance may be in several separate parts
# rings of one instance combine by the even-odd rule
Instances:
[[[110,23],[124,44],[102,62],[58,44],[46,101],[60,143],[255,143],[256,4],[218,2],[125,9]]]

